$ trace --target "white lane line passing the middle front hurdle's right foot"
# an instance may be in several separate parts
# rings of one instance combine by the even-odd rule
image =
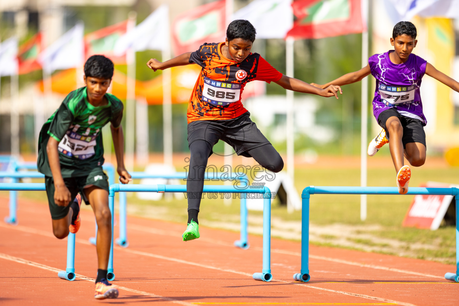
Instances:
[[[3,225],[1,225],[1,223],[0,223],[0,226],[3,226]],[[22,231],[23,228],[26,228],[26,227],[23,227],[23,226],[20,227],[20,228],[11,227],[11,226],[3,226],[3,227],[12,228],[12,229],[18,229],[20,231]],[[34,232],[34,228],[26,228],[26,229],[27,229],[28,233],[33,233]],[[43,231],[37,230],[36,234],[40,234],[40,232],[43,232]],[[49,237],[50,235],[46,235],[46,236]],[[89,242],[87,242],[86,240],[83,240],[83,239],[76,239],[76,242],[81,243],[79,240],[82,240],[82,242],[84,242],[85,245],[90,244]],[[122,247],[115,247],[115,248],[117,250],[121,250],[121,251],[124,251],[124,252],[127,252],[127,253],[136,254],[136,255],[149,256],[149,257],[154,257],[154,258],[158,258],[158,259],[162,259],[162,260],[174,261],[174,262],[179,262],[179,263],[183,263],[183,264],[187,264],[187,265],[203,267],[203,268],[212,269],[212,270],[218,270],[218,271],[225,271],[225,272],[240,274],[240,275],[249,276],[249,277],[252,276],[252,274],[250,274],[250,273],[245,273],[245,272],[236,271],[236,270],[232,270],[232,269],[223,269],[223,268],[213,267],[213,266],[199,264],[199,263],[192,262],[192,261],[185,261],[185,260],[178,259],[178,258],[157,255],[157,254],[153,254],[153,253],[149,253],[149,252],[126,249],[126,248],[122,248]],[[311,285],[307,285],[307,284],[303,284],[303,283],[294,283],[294,282],[289,282],[289,281],[280,280],[280,279],[273,279],[273,281],[281,282],[281,283],[284,283],[284,284],[295,284],[295,285],[298,285],[298,286],[304,286],[304,287],[308,287],[308,288],[311,288],[311,289],[324,290],[324,291],[329,291],[329,292],[343,294],[343,295],[351,295],[351,296],[356,296],[356,297],[362,297],[362,298],[370,299],[370,300],[391,301],[391,303],[393,302],[393,303],[397,303],[397,304],[400,304],[400,305],[403,305],[403,306],[415,306],[414,304],[398,302],[398,301],[395,301],[395,300],[387,300],[387,299],[383,299],[383,298],[379,298],[379,297],[375,297],[375,296],[360,295],[360,294],[357,294],[357,293],[351,293],[351,292],[346,292],[346,291],[337,291],[337,290],[332,290],[332,289],[325,289],[325,288],[315,287],[315,286],[311,286]]]

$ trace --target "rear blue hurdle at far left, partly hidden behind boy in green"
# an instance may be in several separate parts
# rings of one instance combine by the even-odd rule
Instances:
[[[108,173],[108,184],[111,185],[115,182],[115,167],[112,164],[104,164],[103,169]],[[18,163],[13,161],[13,170],[15,172],[10,171],[0,171],[0,178],[11,178],[11,183],[18,183],[20,178],[45,178],[45,175],[40,172],[31,172],[31,171],[24,171],[24,172],[17,172],[19,169],[29,169],[29,170],[36,170],[37,163],[36,162],[24,162]],[[5,217],[5,222],[16,225],[17,224],[17,191],[10,190],[10,215]],[[96,224],[97,226],[97,224]],[[95,233],[97,234],[97,228]]]

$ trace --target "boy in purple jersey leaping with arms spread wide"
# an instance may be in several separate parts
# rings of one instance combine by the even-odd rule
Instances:
[[[414,167],[425,162],[425,133],[427,123],[422,112],[420,96],[421,79],[424,74],[459,92],[459,83],[438,71],[424,59],[411,54],[417,44],[416,27],[411,22],[398,22],[391,37],[394,50],[375,54],[368,59],[368,65],[359,71],[343,75],[325,84],[312,85],[325,88],[330,84],[355,83],[371,73],[376,78],[373,114],[381,131],[371,140],[368,155],[373,156],[389,143],[392,161],[397,172],[398,192],[408,192],[411,169],[403,165],[403,156]]]

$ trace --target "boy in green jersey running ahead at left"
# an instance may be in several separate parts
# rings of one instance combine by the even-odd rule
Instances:
[[[112,216],[108,207],[107,176],[102,171],[104,147],[101,129],[108,122],[111,123],[120,181],[127,184],[131,180],[123,158],[123,103],[106,93],[112,77],[113,63],[110,59],[95,55],[86,61],[86,86],[68,94],[43,125],[37,161],[39,171],[45,174],[53,233],[57,238],[67,237],[69,231],[78,231],[81,222],[78,192],[94,211],[98,226],[96,248],[99,266],[95,280],[96,299],[118,297],[118,290],[106,280]]]

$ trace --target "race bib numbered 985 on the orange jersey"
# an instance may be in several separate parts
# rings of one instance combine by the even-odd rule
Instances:
[[[228,106],[230,103],[239,101],[241,96],[241,84],[214,81],[204,77],[202,88],[202,100],[216,106]]]

